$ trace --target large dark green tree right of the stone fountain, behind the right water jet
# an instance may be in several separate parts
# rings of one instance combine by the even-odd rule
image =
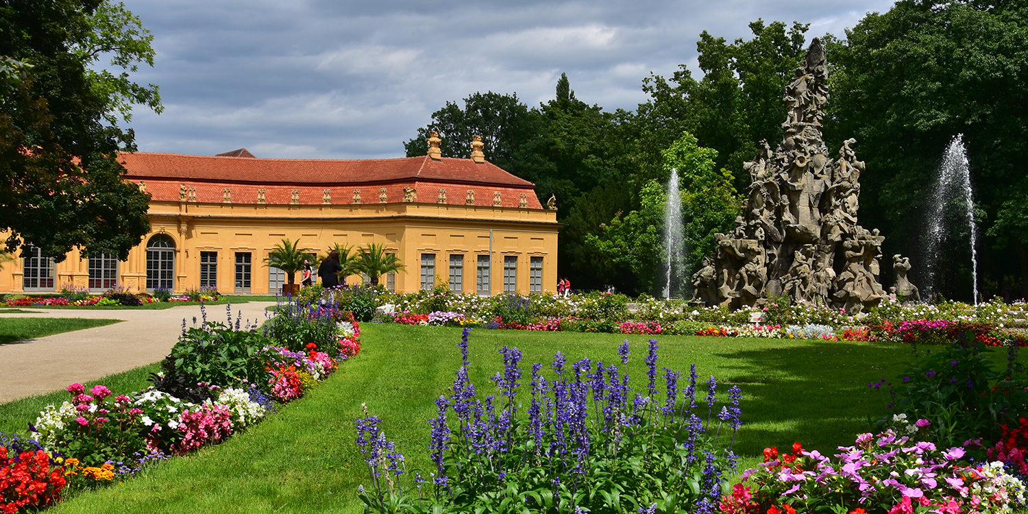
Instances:
[[[1028,288],[1023,231],[1028,155],[1028,9],[1021,2],[901,0],[828,39],[832,100],[825,133],[836,145],[855,137],[868,173],[860,178],[860,221],[881,227],[887,253],[924,269],[924,208],[941,156],[964,135],[970,160],[985,281],[1020,274]],[[1019,229],[1020,227],[1020,229]],[[942,284],[969,299],[967,234],[944,243],[942,263],[959,282]],[[946,287],[949,286],[949,287]],[[1028,295],[1028,290],[1022,289]]]

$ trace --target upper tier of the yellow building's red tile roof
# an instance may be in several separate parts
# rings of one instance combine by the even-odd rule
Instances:
[[[249,153],[249,152],[248,152]],[[429,156],[393,159],[265,159],[174,153],[122,153],[131,179],[201,180],[260,184],[366,184],[399,180],[533,187],[495,164]]]

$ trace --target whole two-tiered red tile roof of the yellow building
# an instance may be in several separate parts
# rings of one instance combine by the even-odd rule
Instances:
[[[263,159],[173,153],[123,153],[126,178],[144,183],[154,200],[179,201],[183,185],[186,200],[200,204],[350,205],[356,190],[360,204],[399,204],[404,189],[416,191],[417,204],[542,209],[534,184],[489,162],[428,156],[367,160]],[[386,200],[381,200],[384,189]],[[440,189],[445,195],[440,201]],[[259,201],[263,190],[263,201]],[[468,191],[474,191],[468,204]],[[524,205],[521,195],[524,195]]]

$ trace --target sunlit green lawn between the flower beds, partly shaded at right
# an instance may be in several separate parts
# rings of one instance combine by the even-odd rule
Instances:
[[[433,400],[449,388],[460,364],[460,334],[455,328],[364,324],[361,355],[304,399],[222,445],[161,464],[121,485],[80,493],[51,512],[361,512],[356,489],[368,479],[353,429],[361,404],[383,419],[382,428],[407,455],[409,468],[426,467],[427,421],[435,412]],[[549,363],[558,350],[568,363],[582,357],[615,361],[615,347],[623,339],[616,334],[476,330],[472,379],[481,393],[491,391],[487,377],[502,367],[497,351],[504,344],[523,351],[527,375],[530,362]],[[636,388],[646,380],[647,339],[629,337]],[[765,446],[802,441],[828,453],[851,443],[868,429],[866,419],[880,416],[887,402],[883,393],[865,384],[891,378],[910,359],[906,346],[884,343],[658,339],[659,367],[688,374],[695,363],[702,377],[713,374],[722,383],[742,388],[746,425],[736,449],[744,455],[743,466],[757,463]],[[997,360],[1003,357],[997,355]],[[145,373],[128,374],[123,377],[128,390],[145,384]],[[0,419],[27,416],[29,410],[0,406]]]

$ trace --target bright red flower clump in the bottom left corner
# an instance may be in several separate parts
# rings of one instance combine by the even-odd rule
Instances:
[[[50,467],[50,455],[43,450],[11,453],[0,446],[0,513],[14,514],[41,509],[61,500],[67,484],[64,470]]]

